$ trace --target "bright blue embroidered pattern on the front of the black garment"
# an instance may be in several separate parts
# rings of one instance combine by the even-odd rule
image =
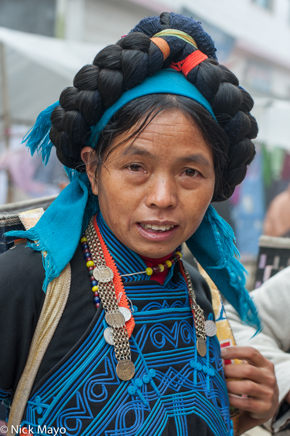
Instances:
[[[108,248],[115,244],[116,249],[110,229],[103,236]],[[121,273],[142,271],[135,253],[133,266],[123,263],[128,250],[118,244]],[[143,280],[148,279],[124,283],[138,308],[130,339],[134,378],[125,382],[117,377],[114,347],[103,338],[107,325],[100,310],[91,332],[29,399],[22,424],[34,426],[34,434],[42,434],[38,426],[46,425],[64,427],[66,436],[188,436],[196,422],[201,436],[230,434],[220,345],[215,337],[207,338],[206,356],[196,352],[183,277],[168,280],[166,286]]]

